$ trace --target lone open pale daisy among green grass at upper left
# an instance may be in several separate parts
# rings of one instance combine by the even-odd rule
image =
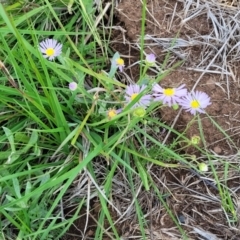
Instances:
[[[62,52],[62,44],[55,39],[46,39],[39,43],[40,51],[44,58],[48,58],[50,61],[59,56]]]

